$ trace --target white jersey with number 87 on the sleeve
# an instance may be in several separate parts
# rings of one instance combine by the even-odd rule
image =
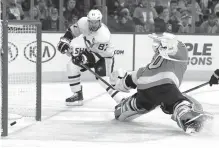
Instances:
[[[87,48],[88,51],[90,50],[101,57],[111,58],[114,56],[111,33],[103,23],[96,32],[92,32],[89,30],[87,17],[82,17],[70,29],[73,36],[76,37],[71,42],[71,46],[75,50]]]

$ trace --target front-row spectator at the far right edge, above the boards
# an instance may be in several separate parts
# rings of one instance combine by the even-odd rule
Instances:
[[[219,27],[214,14],[211,14],[208,20],[201,24],[200,32],[210,34],[219,33]]]

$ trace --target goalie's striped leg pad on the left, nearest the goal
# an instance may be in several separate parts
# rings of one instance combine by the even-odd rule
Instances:
[[[115,118],[119,121],[131,121],[142,114],[147,113],[146,109],[138,109],[136,106],[136,94],[123,99],[114,111]]]

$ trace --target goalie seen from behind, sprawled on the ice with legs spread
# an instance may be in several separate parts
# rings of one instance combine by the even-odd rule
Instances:
[[[155,51],[151,63],[130,73],[122,70],[112,73],[111,84],[115,89],[128,92],[137,88],[137,93],[115,107],[115,118],[132,120],[160,106],[183,131],[199,132],[204,121],[212,116],[203,111],[198,101],[178,89],[188,64],[186,46],[169,33],[149,37],[154,41]]]

